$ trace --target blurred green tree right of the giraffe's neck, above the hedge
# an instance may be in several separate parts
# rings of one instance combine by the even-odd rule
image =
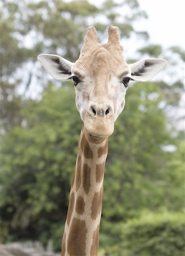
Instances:
[[[183,193],[183,158],[176,161],[176,167],[169,168],[180,149],[175,152],[163,149],[169,144],[178,147],[179,142],[166,129],[165,112],[158,107],[161,101],[158,83],[137,83],[128,90],[124,112],[109,140],[104,180],[103,214],[113,221],[127,220],[145,207],[153,210],[183,207],[183,196],[178,194],[178,200],[175,196],[175,182]],[[171,175],[175,177],[169,187],[167,177],[170,179]]]

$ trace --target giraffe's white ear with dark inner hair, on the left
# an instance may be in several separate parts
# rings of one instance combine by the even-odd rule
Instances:
[[[37,57],[45,70],[57,80],[68,80],[73,63],[58,55],[41,54]]]

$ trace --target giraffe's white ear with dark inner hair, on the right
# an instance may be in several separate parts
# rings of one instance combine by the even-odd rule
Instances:
[[[163,59],[147,59],[130,64],[131,78],[146,82],[156,76],[167,64]]]

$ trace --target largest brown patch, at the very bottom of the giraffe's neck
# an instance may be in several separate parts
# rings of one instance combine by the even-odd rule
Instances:
[[[87,228],[85,221],[73,218],[69,230],[68,253],[72,256],[86,255],[86,234]]]

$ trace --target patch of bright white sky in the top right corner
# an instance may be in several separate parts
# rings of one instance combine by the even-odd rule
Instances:
[[[148,31],[150,42],[169,46],[185,46],[184,0],[138,0],[148,19],[138,27]]]

